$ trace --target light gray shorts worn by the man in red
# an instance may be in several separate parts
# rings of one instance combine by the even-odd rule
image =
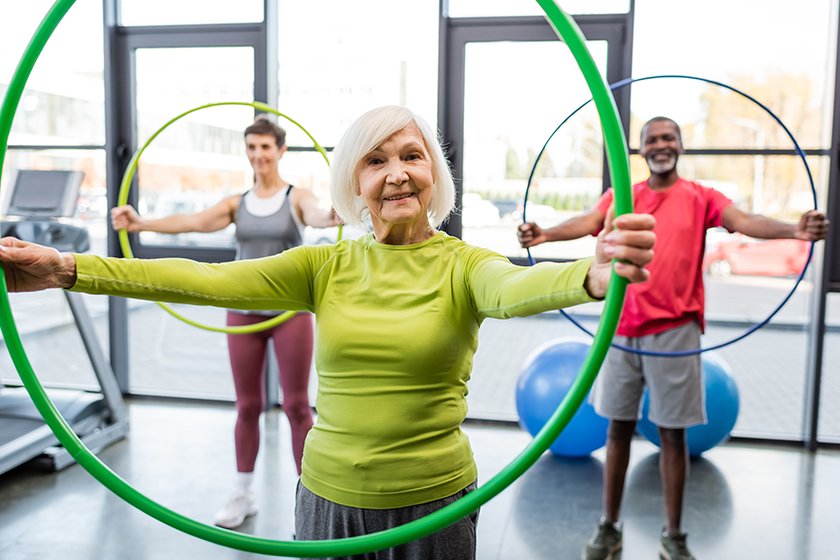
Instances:
[[[613,342],[656,352],[700,347],[700,325],[691,321],[648,336],[616,336]],[[641,417],[645,385],[650,391],[648,419],[662,428],[706,423],[706,394],[700,354],[666,357],[610,348],[589,398],[595,412],[612,420]]]

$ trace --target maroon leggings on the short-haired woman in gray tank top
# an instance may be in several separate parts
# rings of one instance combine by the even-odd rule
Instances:
[[[228,311],[228,326],[253,325],[264,315]],[[309,406],[309,369],[312,364],[312,315],[298,313],[276,327],[250,334],[229,334],[228,352],[236,387],[236,470],[253,472],[260,448],[260,414],[265,403],[265,359],[268,340],[280,369],[283,412],[292,427],[292,452],[298,474],[303,442],[312,427]]]

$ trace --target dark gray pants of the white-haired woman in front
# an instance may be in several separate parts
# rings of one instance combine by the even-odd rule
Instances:
[[[295,538],[344,539],[378,533],[420,519],[448,506],[476,489],[473,482],[452,496],[426,504],[395,509],[361,509],[343,506],[313,494],[298,480],[295,496]],[[478,511],[415,541],[368,554],[342,556],[342,560],[475,560]],[[335,559],[338,560],[338,559]]]

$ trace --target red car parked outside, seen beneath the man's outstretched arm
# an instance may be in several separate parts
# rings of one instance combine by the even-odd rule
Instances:
[[[798,239],[753,239],[735,233],[706,248],[703,272],[716,278],[730,274],[797,276],[808,259],[810,245]]]

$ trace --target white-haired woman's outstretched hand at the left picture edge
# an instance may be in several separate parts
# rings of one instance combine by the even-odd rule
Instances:
[[[52,247],[4,237],[0,240],[0,261],[9,292],[72,288],[76,283],[75,257]]]

